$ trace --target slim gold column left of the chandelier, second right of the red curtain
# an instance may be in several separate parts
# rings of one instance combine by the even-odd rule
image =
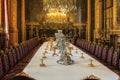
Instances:
[[[21,25],[22,25],[22,41],[26,40],[26,25],[25,25],[25,0],[22,0],[21,6]]]

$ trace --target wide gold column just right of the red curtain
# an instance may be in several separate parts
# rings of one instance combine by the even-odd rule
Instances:
[[[10,44],[18,43],[18,29],[17,29],[17,0],[8,0],[10,10]]]

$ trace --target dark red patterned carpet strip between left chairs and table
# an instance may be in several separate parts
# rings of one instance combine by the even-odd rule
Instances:
[[[30,62],[36,51],[39,49],[40,45],[35,47],[29,55],[24,57],[12,70],[10,70],[2,79],[0,80],[8,80],[10,77],[15,76],[16,74],[23,71],[23,69],[26,67],[26,65]]]

